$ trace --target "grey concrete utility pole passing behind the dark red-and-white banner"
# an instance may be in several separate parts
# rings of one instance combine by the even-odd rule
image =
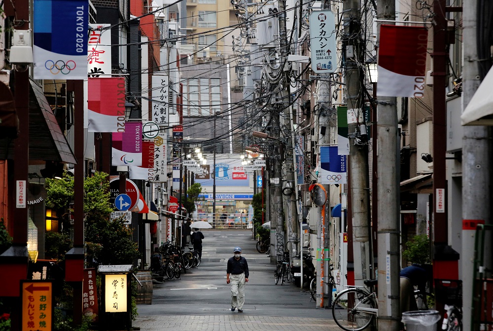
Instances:
[[[393,24],[393,0],[384,0],[381,5],[379,3],[377,19],[388,20],[388,24]],[[377,46],[380,42],[380,25],[381,22],[377,26]],[[381,96],[377,100],[378,323],[379,328],[387,331],[398,331],[400,322],[400,163],[396,101],[395,96]]]

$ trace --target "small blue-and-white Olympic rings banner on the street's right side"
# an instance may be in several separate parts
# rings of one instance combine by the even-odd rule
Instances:
[[[346,184],[346,155],[339,155],[336,146],[320,147],[318,164],[318,182],[320,184]]]

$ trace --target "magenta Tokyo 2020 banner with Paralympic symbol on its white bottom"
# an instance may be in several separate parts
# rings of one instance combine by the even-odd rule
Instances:
[[[111,148],[113,166],[142,165],[142,123],[125,123],[125,132],[114,132]]]

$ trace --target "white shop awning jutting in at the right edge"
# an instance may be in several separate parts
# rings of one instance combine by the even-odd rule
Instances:
[[[462,125],[493,125],[493,69],[479,85],[460,116]]]

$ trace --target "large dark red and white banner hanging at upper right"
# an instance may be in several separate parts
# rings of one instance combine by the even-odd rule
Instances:
[[[378,96],[424,96],[428,31],[382,25],[378,51]]]

